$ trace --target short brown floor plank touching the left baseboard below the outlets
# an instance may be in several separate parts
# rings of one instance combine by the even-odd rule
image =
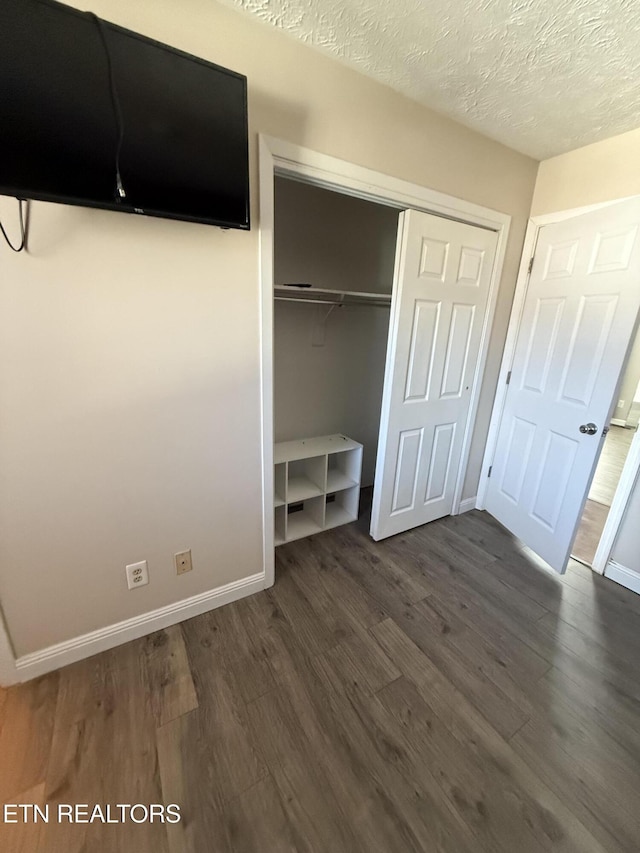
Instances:
[[[156,725],[163,726],[198,707],[179,625],[172,625],[146,637],[144,655]]]

